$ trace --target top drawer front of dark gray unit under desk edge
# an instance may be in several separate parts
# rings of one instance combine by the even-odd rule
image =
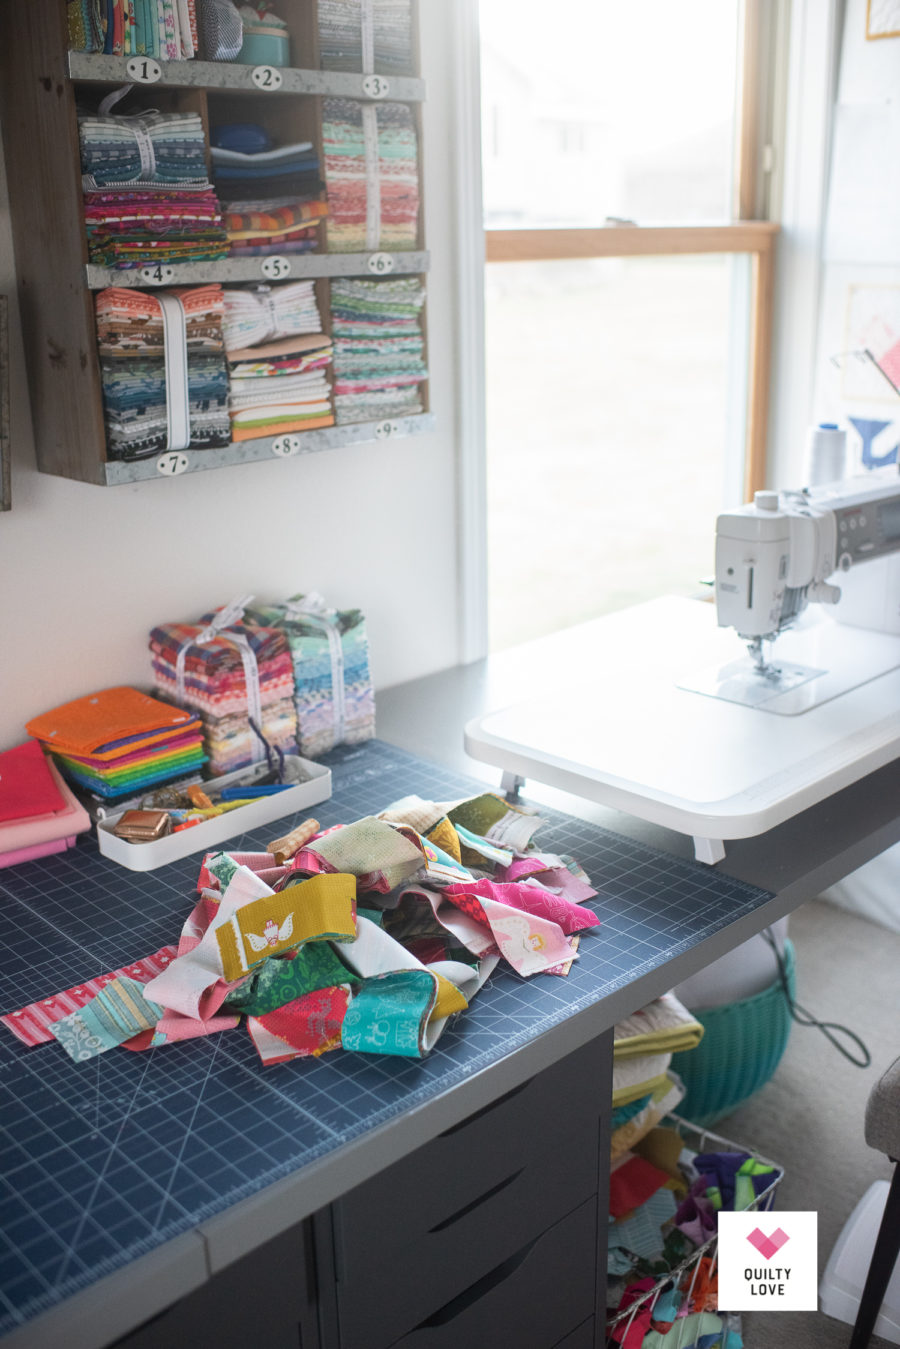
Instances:
[[[564,1153],[596,1182],[596,1166],[591,1170],[580,1149],[609,1110],[607,1052],[603,1037],[592,1040],[344,1195],[333,1206],[339,1278],[354,1282],[371,1269],[372,1257],[387,1259],[452,1225],[533,1163],[548,1164],[551,1153]]]

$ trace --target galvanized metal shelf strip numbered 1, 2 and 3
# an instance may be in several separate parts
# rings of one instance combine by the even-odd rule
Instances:
[[[45,0],[46,3],[46,0]],[[101,57],[89,51],[70,51],[69,78],[92,84],[135,84],[138,88],[167,86],[173,89],[233,89],[247,93],[308,93],[339,98],[391,98],[398,103],[421,103],[425,81],[412,76],[351,74],[341,70],[297,70],[291,66],[266,67],[278,71],[278,88],[256,84],[258,66],[236,65],[229,61],[155,61],[161,71],[158,80],[135,81],[125,57]]]

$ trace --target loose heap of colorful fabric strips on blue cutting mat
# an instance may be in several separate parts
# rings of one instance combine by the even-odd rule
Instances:
[[[231,1029],[263,1064],[344,1048],[422,1058],[501,959],[565,975],[599,920],[541,819],[499,795],[405,797],[314,834],[286,865],[208,854],[177,950],[157,951],[3,1018],[77,1062]]]

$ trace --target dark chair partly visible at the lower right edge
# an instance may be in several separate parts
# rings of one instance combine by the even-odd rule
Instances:
[[[870,1148],[887,1152],[892,1161],[900,1157],[900,1059],[895,1059],[869,1093],[865,1137]],[[869,1344],[899,1252],[900,1166],[895,1166],[849,1349],[865,1349]]]

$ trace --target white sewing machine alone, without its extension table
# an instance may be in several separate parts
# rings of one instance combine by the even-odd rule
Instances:
[[[900,643],[888,634],[900,633],[899,552],[896,465],[801,491],[760,491],[725,511],[716,522],[716,618],[746,642],[749,657],[690,674],[680,687],[795,715],[895,669]],[[857,631],[850,638],[837,625]]]

